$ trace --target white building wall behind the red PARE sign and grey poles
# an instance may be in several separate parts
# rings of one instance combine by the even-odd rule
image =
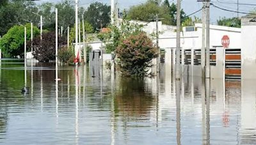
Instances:
[[[182,48],[202,47],[202,24],[195,25],[196,31],[180,32],[180,46]],[[221,46],[221,38],[228,35],[230,38],[229,48],[241,48],[241,29],[210,25],[210,46]],[[161,48],[176,47],[176,32],[164,32],[159,36],[159,46]]]

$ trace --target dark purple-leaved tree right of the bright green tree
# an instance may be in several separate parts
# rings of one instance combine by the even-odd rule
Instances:
[[[39,62],[50,62],[55,60],[55,32],[47,32],[43,34],[42,41],[40,36],[33,39],[33,55]],[[58,36],[58,48],[63,48],[67,45],[67,37]],[[28,46],[30,48],[30,46]]]

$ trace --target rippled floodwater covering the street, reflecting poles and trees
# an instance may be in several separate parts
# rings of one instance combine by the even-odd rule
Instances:
[[[145,79],[89,67],[55,75],[28,62],[25,81],[22,60],[2,60],[0,144],[256,143],[254,81],[175,81],[164,66]]]

